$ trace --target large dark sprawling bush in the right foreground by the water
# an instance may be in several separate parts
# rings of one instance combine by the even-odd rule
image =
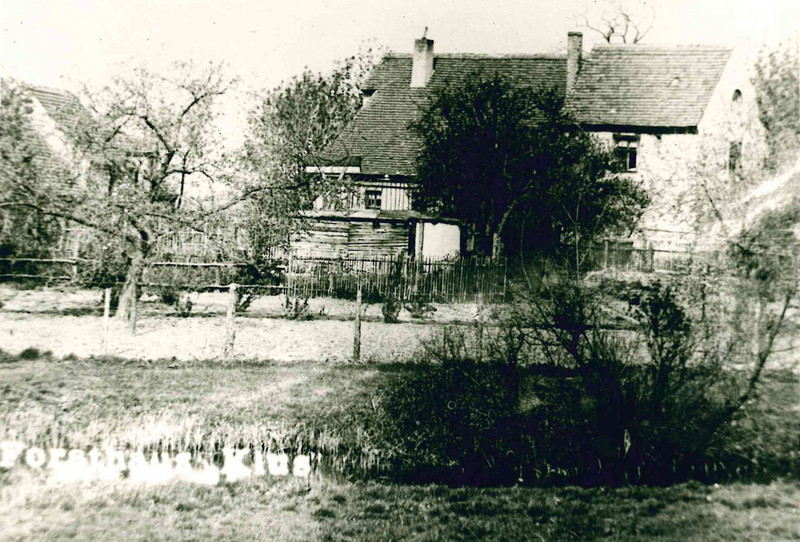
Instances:
[[[386,391],[376,446],[392,450],[401,472],[618,486],[766,480],[796,468],[789,416],[773,412],[774,399],[751,414],[765,358],[750,353],[747,305],[714,320],[723,314],[715,304],[730,300],[708,295],[702,320],[705,309],[687,308],[686,285],[655,282],[630,299],[634,329],[604,329],[598,307],[608,298],[562,286],[499,329],[445,328],[419,370]],[[523,343],[544,359],[521,365]]]

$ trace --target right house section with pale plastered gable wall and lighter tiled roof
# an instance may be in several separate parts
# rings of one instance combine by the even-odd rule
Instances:
[[[613,145],[652,202],[633,236],[690,249],[715,199],[746,188],[767,155],[756,94],[737,51],[713,45],[605,45],[581,55],[570,33],[574,85],[566,107]]]

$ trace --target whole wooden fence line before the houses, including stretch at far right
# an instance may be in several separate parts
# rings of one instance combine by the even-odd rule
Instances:
[[[169,256],[148,265],[142,277],[144,285],[202,291],[236,283],[262,293],[287,293],[301,298],[354,298],[360,286],[367,300],[394,297],[458,303],[500,302],[508,288],[506,261],[481,256],[436,260],[403,254],[312,254],[276,247],[264,255],[259,267],[182,254]],[[606,241],[583,251],[581,270],[687,274],[714,256],[715,253],[634,248],[627,242]],[[82,267],[91,263],[80,258],[0,258],[0,281],[76,281]]]

